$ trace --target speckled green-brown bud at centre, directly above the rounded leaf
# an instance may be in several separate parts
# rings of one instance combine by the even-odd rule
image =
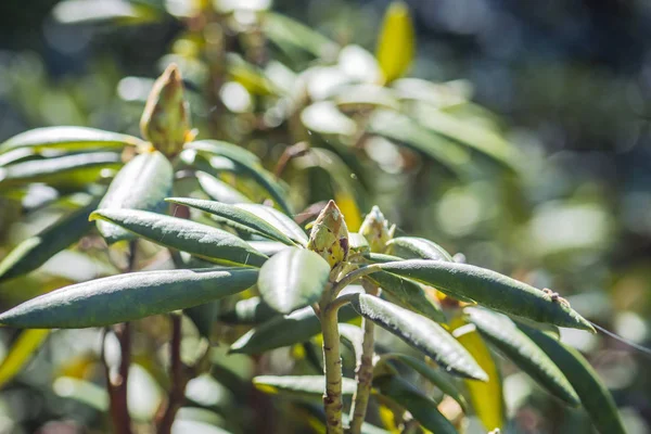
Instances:
[[[318,253],[331,268],[348,259],[348,228],[334,201],[328,202],[317,217],[307,248]]]

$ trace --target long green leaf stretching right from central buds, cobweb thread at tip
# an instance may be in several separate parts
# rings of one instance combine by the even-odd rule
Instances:
[[[565,303],[526,283],[467,264],[403,260],[384,264],[386,271],[436,288],[451,297],[461,295],[505,314],[595,332],[592,326]]]

